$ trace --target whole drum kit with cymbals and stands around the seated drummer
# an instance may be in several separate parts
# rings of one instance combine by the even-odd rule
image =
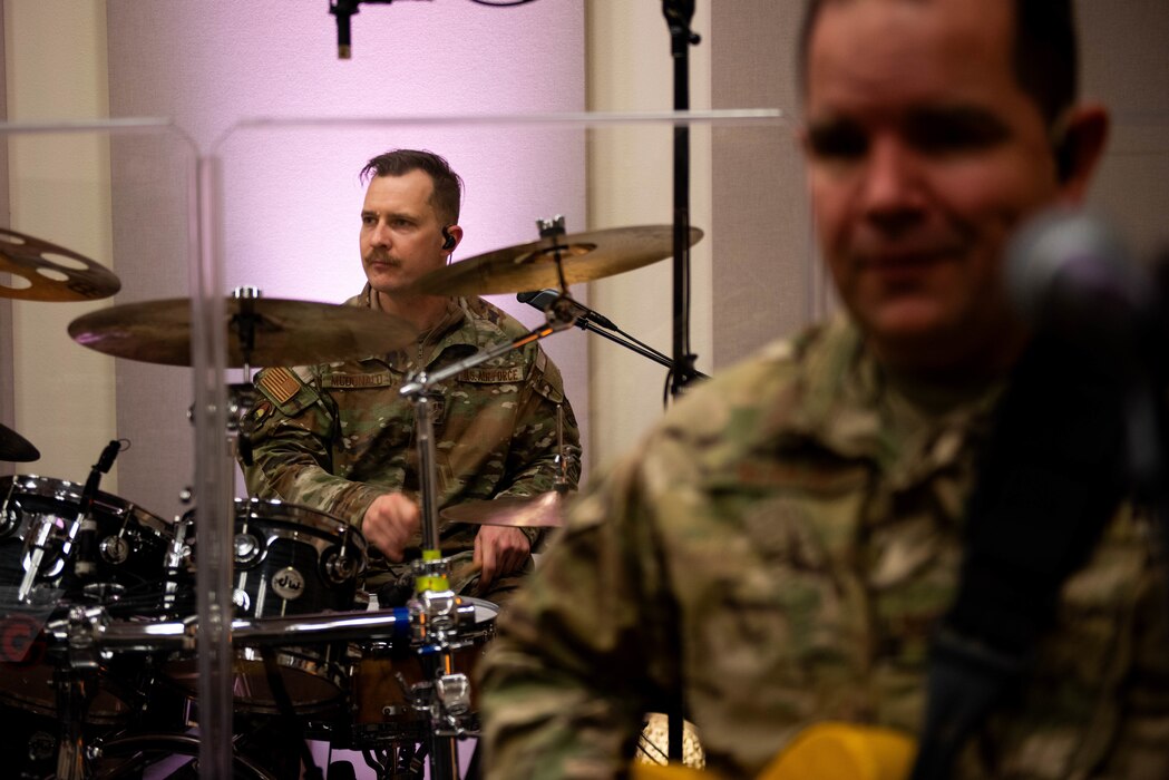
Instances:
[[[461,776],[454,746],[478,734],[473,672],[498,608],[451,591],[438,518],[554,527],[562,524],[563,493],[436,511],[434,478],[427,477],[435,469],[428,391],[570,327],[579,305],[568,296],[568,284],[631,270],[671,250],[669,227],[568,236],[562,220],[539,225],[539,242],[448,265],[419,283],[421,291],[441,295],[549,285],[561,295],[547,308],[546,324],[525,337],[430,375],[417,374],[401,389],[417,406],[423,530],[416,588],[406,607],[367,607],[369,596],[360,588],[366,541],[353,526],[303,506],[235,499],[230,647],[236,776],[285,776],[270,765],[270,743],[249,741],[272,732],[283,734],[285,747],[292,737],[306,769],[314,773],[305,739],[360,752],[379,779],[421,778],[427,761],[435,780]],[[690,237],[694,242],[701,232],[692,229]],[[4,274],[14,283],[0,284],[0,297],[88,301],[120,289],[117,277],[92,261],[0,229],[0,281]],[[229,298],[226,316],[228,365],[249,372],[253,365],[385,353],[415,337],[407,324],[381,312],[254,292]],[[69,333],[113,357],[192,365],[187,299],[102,309],[75,319]],[[249,403],[248,398],[240,401],[241,419]],[[5,738],[13,747],[0,750],[11,771],[6,776],[88,780],[198,772],[192,758],[199,755],[198,511],[166,520],[99,490],[101,475],[118,449],[118,442],[110,442],[83,485],[30,474],[0,477],[0,709],[6,722],[19,724]],[[39,457],[33,443],[0,424],[0,461]],[[179,768],[150,773],[167,761],[178,761]],[[336,766],[339,775],[354,776],[351,765]]]

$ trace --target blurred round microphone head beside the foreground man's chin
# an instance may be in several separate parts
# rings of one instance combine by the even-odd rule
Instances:
[[[1049,210],[1024,225],[1008,244],[1005,277],[1024,319],[1060,336],[1129,338],[1156,305],[1151,278],[1116,229],[1084,210]]]

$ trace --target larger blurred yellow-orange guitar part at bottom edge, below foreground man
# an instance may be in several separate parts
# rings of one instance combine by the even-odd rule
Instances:
[[[759,780],[905,780],[916,750],[892,729],[824,722],[802,731]]]

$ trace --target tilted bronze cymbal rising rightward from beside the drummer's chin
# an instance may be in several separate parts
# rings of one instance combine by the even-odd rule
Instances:
[[[690,228],[691,244],[701,237],[700,229]],[[568,284],[589,282],[669,257],[673,254],[673,228],[643,225],[541,239],[451,263],[423,276],[415,288],[427,295],[496,295],[556,288],[558,254]]]

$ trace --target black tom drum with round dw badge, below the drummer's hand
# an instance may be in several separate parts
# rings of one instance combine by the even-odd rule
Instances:
[[[194,579],[198,543],[194,512],[175,529],[171,559],[181,561],[178,587],[167,586],[179,600],[168,609],[177,615],[195,609]],[[366,541],[357,529],[321,512],[277,501],[236,499],[233,541],[233,593],[237,617],[286,617],[351,609],[358,574],[366,564]],[[184,600],[181,596],[186,594]],[[298,711],[336,706],[348,665],[345,643],[283,647],[274,658],[289,698]],[[237,710],[277,713],[260,649],[236,647],[233,690]],[[166,675],[194,693],[194,658],[172,660]]]

